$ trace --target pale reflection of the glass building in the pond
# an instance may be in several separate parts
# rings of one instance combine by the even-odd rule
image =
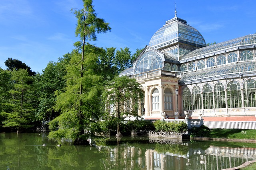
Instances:
[[[188,143],[182,145],[186,147]],[[171,144],[168,145],[172,147]],[[180,145],[180,144],[178,144]],[[189,144],[192,145],[192,144]],[[207,149],[188,147],[186,153],[160,152],[156,146],[140,148],[124,146],[110,148],[110,158],[104,160],[105,169],[126,168],[140,170],[221,170],[240,166],[241,164],[256,160],[254,148],[230,148],[210,146]],[[164,145],[160,145],[165,147]]]

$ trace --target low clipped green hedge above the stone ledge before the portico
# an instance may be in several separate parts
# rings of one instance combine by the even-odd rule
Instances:
[[[166,121],[156,121],[154,123],[156,131],[164,132],[177,132],[183,133],[188,130],[188,125],[185,122],[166,122]]]

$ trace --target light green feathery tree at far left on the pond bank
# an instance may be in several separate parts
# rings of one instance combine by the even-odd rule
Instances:
[[[28,74],[27,70],[22,68],[12,71],[11,80],[14,83],[14,87],[9,91],[12,96],[9,103],[5,106],[9,109],[3,114],[6,116],[6,120],[3,122],[4,127],[14,127],[17,129],[17,133],[21,133],[22,129],[31,127],[30,124],[34,120],[34,96],[32,91],[34,86],[33,77]]]

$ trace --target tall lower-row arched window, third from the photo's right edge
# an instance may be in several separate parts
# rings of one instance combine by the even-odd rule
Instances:
[[[222,83],[217,83],[214,86],[214,99],[215,99],[215,108],[221,109],[226,108],[225,104],[225,90]]]

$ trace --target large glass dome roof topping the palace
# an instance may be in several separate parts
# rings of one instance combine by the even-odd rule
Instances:
[[[170,45],[176,41],[185,41],[198,47],[205,47],[206,43],[201,33],[194,27],[187,24],[187,21],[178,17],[166,21],[165,25],[158,29],[152,36],[149,46],[160,48],[161,46]]]

